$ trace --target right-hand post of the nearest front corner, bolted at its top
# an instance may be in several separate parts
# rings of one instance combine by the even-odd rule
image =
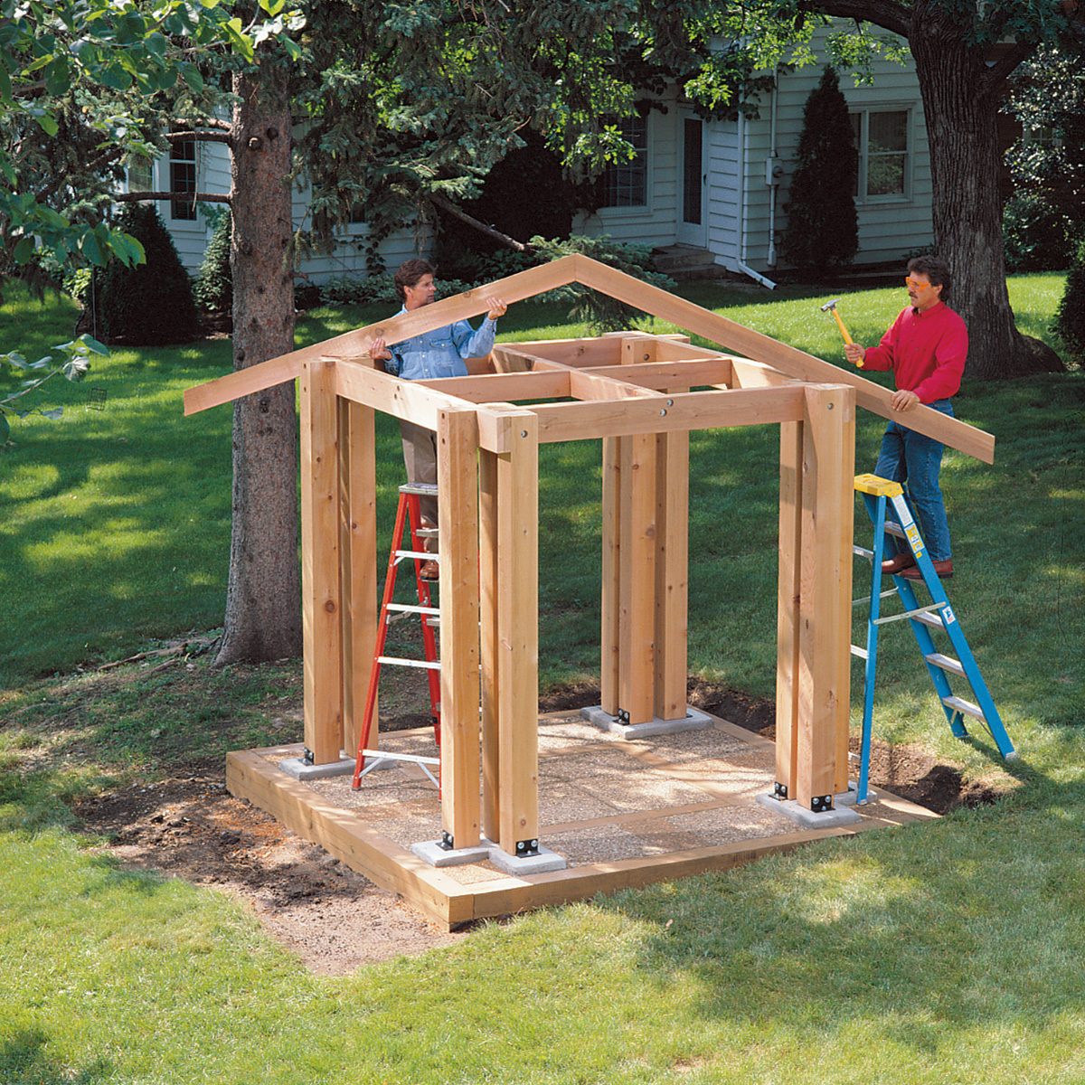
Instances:
[[[497,458],[501,848],[538,840],[538,420],[510,412]]]

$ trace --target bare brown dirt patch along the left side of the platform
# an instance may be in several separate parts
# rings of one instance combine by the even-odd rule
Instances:
[[[75,812],[88,830],[112,838],[110,851],[124,863],[241,897],[319,974],[342,975],[463,937],[234,799],[220,773],[124,788]]]

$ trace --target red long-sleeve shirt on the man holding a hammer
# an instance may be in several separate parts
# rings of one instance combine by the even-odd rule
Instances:
[[[892,369],[897,388],[932,404],[956,395],[968,358],[968,328],[943,302],[926,312],[909,305],[878,346],[863,356],[864,369]]]

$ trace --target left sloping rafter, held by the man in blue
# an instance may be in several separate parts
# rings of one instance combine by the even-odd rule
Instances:
[[[500,297],[506,303],[521,302],[525,297],[534,297],[556,286],[563,286],[573,281],[575,261],[575,256],[563,256],[550,264],[518,271],[506,279],[498,279],[486,286],[468,290],[455,297],[446,297],[444,301],[423,305],[420,309],[404,312],[388,320],[344,332],[334,339],[280,355],[257,366],[235,370],[215,381],[189,388],[184,393],[184,413],[194,414],[209,407],[229,403],[239,396],[263,392],[276,384],[291,381],[302,371],[302,365],[306,361],[323,357],[353,358],[367,354],[374,339],[383,339],[386,343],[395,344],[413,335],[456,323],[457,320],[476,317],[486,311],[487,299],[490,297]]]

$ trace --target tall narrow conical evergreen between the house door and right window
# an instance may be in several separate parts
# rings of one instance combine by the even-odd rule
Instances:
[[[859,248],[858,152],[837,73],[827,67],[803,110],[797,165],[784,205],[783,258],[803,275],[840,270]]]

